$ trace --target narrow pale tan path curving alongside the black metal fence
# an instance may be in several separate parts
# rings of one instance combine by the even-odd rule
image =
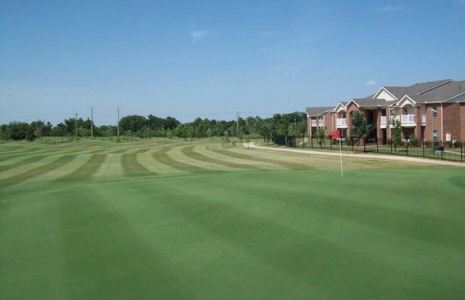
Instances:
[[[242,145],[244,147],[247,147],[246,142],[244,142]],[[301,149],[290,149],[290,148],[262,147],[262,146],[255,145],[255,143],[253,143],[253,142],[248,143],[248,146],[250,148],[259,148],[259,149],[266,149],[266,150],[273,150],[273,151],[288,151],[288,152],[298,152],[298,153],[316,154],[316,155],[328,155],[328,156],[339,156],[340,155],[338,152],[319,152],[319,151],[312,151],[312,150],[301,150]],[[404,161],[412,161],[412,162],[419,162],[419,163],[431,163],[431,164],[454,165],[454,166],[465,167],[465,163],[461,163],[461,162],[433,160],[433,159],[424,159],[424,158],[408,157],[408,156],[397,156],[397,155],[373,155],[373,154],[342,153],[342,156],[404,160]]]

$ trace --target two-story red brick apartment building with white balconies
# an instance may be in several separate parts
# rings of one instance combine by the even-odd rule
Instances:
[[[324,134],[339,130],[350,135],[351,114],[364,114],[369,126],[367,138],[386,142],[391,138],[389,120],[397,118],[402,138],[465,141],[465,80],[452,79],[415,83],[410,86],[382,86],[365,98],[352,98],[335,107],[307,107],[307,134],[319,127]]]

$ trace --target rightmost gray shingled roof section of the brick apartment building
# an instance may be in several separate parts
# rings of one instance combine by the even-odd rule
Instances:
[[[424,92],[419,95],[410,96],[416,102],[442,102],[453,96],[459,95],[465,92],[465,80],[462,81],[453,81],[447,84],[441,85],[434,89],[431,89],[427,92]],[[450,102],[463,102],[465,97],[456,97],[450,99]]]

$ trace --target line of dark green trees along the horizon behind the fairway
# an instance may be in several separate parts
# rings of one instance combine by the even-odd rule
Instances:
[[[93,126],[92,126],[93,125]],[[238,130],[237,130],[238,129]],[[12,121],[0,125],[0,139],[34,140],[45,136],[115,136],[116,125],[95,126],[87,118],[67,118],[52,125],[50,122],[36,120],[30,123]],[[119,120],[119,134],[137,137],[179,137],[184,139],[213,136],[247,135],[262,137],[266,141],[275,134],[303,134],[306,132],[306,114],[304,112],[275,113],[272,117],[239,117],[236,120],[217,120],[197,117],[191,122],[181,123],[174,117],[157,117],[152,114],[126,115]]]

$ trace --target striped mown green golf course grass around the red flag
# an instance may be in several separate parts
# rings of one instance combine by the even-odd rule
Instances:
[[[464,298],[464,169],[343,165],[217,139],[0,145],[0,298]]]

